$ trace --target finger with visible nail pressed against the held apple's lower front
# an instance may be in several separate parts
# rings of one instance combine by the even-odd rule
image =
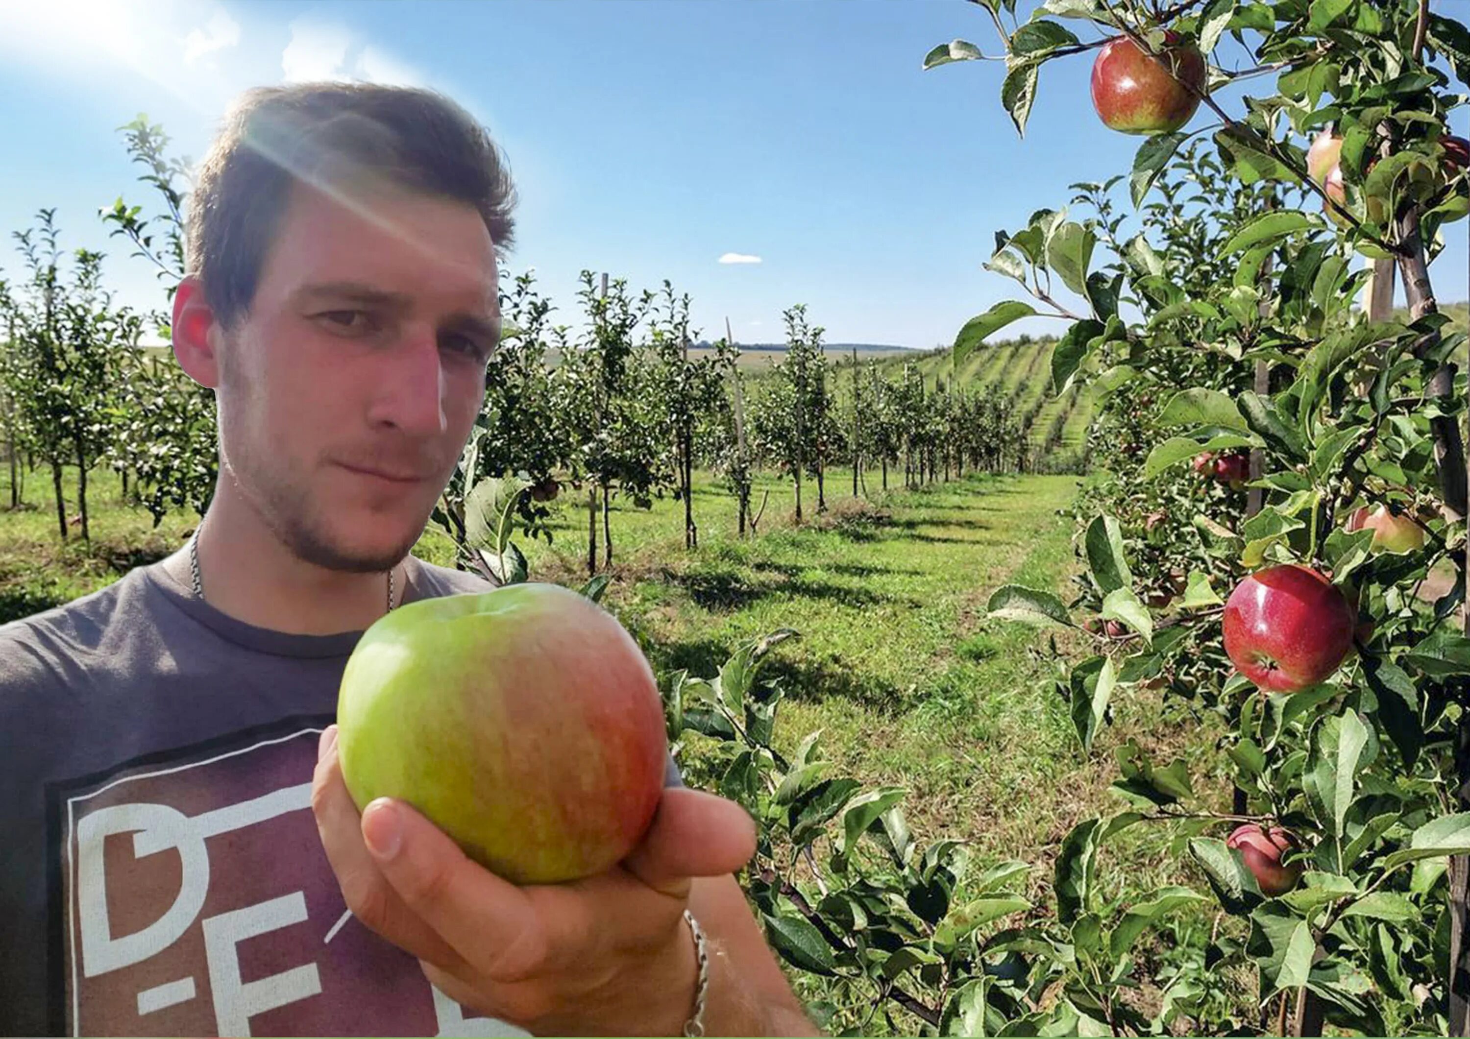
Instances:
[[[526,891],[472,861],[410,805],[373,801],[362,832],[403,904],[475,970],[516,982],[547,964],[551,936]]]

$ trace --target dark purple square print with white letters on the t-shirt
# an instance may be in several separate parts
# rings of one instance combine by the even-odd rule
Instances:
[[[51,788],[66,1035],[526,1035],[473,1017],[347,911],[310,807],[328,720]]]

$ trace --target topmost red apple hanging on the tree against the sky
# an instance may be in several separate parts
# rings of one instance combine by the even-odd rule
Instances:
[[[1104,125],[1123,134],[1170,134],[1200,107],[1204,54],[1173,29],[1157,57],[1127,37],[1114,37],[1092,63],[1092,106]]]

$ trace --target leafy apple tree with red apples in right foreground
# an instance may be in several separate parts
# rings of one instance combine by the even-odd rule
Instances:
[[[1470,32],[1427,0],[978,6],[1017,131],[1047,63],[1091,60],[1098,118],[1141,135],[1132,170],[998,234],[988,267],[1029,298],[956,341],[1057,317],[1053,391],[1098,392],[1111,448],[1078,595],[1008,586],[992,614],[1064,629],[1085,751],[1122,710],[1217,749],[1113,748],[1122,810],[1054,864],[1061,998],[1114,1033],[1464,1035],[1466,332],[1430,272],[1467,212]],[[1110,882],[1123,841],[1179,849],[1179,883]]]

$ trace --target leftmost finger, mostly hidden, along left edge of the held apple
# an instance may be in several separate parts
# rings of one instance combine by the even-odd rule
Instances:
[[[404,905],[363,844],[362,822],[343,782],[335,738],[337,726],[322,733],[320,757],[312,774],[312,814],[347,908],[370,930],[419,960],[445,970],[462,968],[460,957]]]

